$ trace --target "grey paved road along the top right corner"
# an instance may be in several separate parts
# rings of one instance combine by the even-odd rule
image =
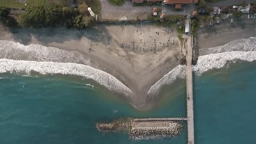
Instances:
[[[222,7],[222,6],[232,6],[232,5],[237,5],[241,4],[245,1],[246,3],[253,3],[254,0],[224,0],[224,1],[217,1],[213,3],[207,3],[208,6],[210,7]]]

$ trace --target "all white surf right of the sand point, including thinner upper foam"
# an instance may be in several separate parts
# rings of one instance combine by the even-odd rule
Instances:
[[[235,63],[237,60],[253,62],[256,60],[256,37],[234,40],[224,46],[200,49],[200,55],[197,65],[193,66],[196,75],[201,75],[210,69],[220,69],[227,62]],[[171,72],[164,75],[149,89],[147,98],[157,96],[164,85],[170,85],[177,78],[186,78],[185,65],[178,65]]]

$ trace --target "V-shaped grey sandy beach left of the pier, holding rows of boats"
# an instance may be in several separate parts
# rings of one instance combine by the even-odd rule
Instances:
[[[78,51],[98,69],[115,76],[137,98],[137,105],[144,104],[145,95],[155,82],[176,67],[178,45],[177,33],[167,33],[166,28],[152,24],[98,25],[95,29],[82,31],[65,28],[6,29],[1,27],[0,40],[10,40],[24,45],[40,44],[67,51]],[[151,52],[152,38],[159,49]],[[120,47],[120,43],[134,41],[138,49]],[[167,42],[162,47],[160,43]],[[139,50],[139,47],[149,52]],[[90,52],[88,51],[90,48]]]

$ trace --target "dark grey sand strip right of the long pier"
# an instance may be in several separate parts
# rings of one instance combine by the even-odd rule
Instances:
[[[256,20],[241,20],[233,24],[229,20],[198,29],[197,39],[201,49],[223,46],[236,39],[256,36]]]

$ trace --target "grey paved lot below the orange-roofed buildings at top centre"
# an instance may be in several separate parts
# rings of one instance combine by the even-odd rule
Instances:
[[[152,6],[152,7],[132,7],[131,0],[126,0],[125,4],[118,7],[108,3],[107,0],[100,0],[102,6],[102,19],[109,20],[132,20],[139,16],[140,19],[146,18],[152,12],[153,7],[162,9],[166,15],[181,15],[184,11],[174,11],[174,7],[166,6]]]

